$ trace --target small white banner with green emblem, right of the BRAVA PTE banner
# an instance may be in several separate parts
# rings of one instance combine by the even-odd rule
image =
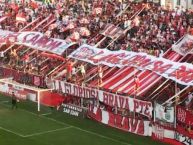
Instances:
[[[174,123],[174,107],[164,107],[160,104],[155,105],[155,118],[161,121]]]

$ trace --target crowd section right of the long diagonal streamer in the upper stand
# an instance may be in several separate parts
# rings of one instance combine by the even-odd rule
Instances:
[[[130,23],[131,29],[109,49],[159,56],[185,34],[193,34],[193,12],[180,7],[171,10],[149,3]]]

